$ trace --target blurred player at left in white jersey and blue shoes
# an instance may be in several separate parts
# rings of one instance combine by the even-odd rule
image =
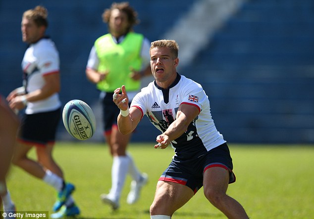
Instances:
[[[13,164],[44,180],[57,190],[52,218],[79,214],[71,193],[74,185],[65,183],[63,172],[52,157],[55,133],[61,115],[59,54],[51,39],[45,36],[48,11],[36,6],[23,13],[21,31],[23,42],[29,44],[22,61],[23,87],[14,89],[7,97],[15,110],[24,107]],[[35,146],[38,160],[28,157]],[[3,202],[4,203],[4,202]]]

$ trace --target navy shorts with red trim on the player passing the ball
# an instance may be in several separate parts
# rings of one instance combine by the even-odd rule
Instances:
[[[235,182],[232,172],[232,158],[226,143],[219,145],[207,154],[186,161],[174,156],[168,168],[160,176],[160,181],[171,181],[190,187],[196,193],[203,186],[204,172],[211,167],[221,167],[229,171],[229,183]]]

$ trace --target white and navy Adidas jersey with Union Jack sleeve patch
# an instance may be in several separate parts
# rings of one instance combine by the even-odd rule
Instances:
[[[175,120],[181,104],[196,106],[200,114],[187,131],[171,142],[176,156],[201,156],[226,142],[214,125],[209,99],[202,86],[185,76],[177,74],[175,82],[168,89],[158,87],[155,81],[150,83],[133,98],[131,107],[139,108],[158,130],[164,132]]]

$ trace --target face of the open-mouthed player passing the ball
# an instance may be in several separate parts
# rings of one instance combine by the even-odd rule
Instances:
[[[167,47],[152,48],[150,54],[153,76],[158,86],[167,88],[176,78],[176,67],[179,59],[175,58],[171,50]]]

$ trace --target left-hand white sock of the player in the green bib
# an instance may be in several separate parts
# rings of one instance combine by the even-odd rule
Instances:
[[[120,199],[125,177],[128,173],[130,159],[127,156],[113,157],[111,168],[111,189],[109,195],[116,200]]]

